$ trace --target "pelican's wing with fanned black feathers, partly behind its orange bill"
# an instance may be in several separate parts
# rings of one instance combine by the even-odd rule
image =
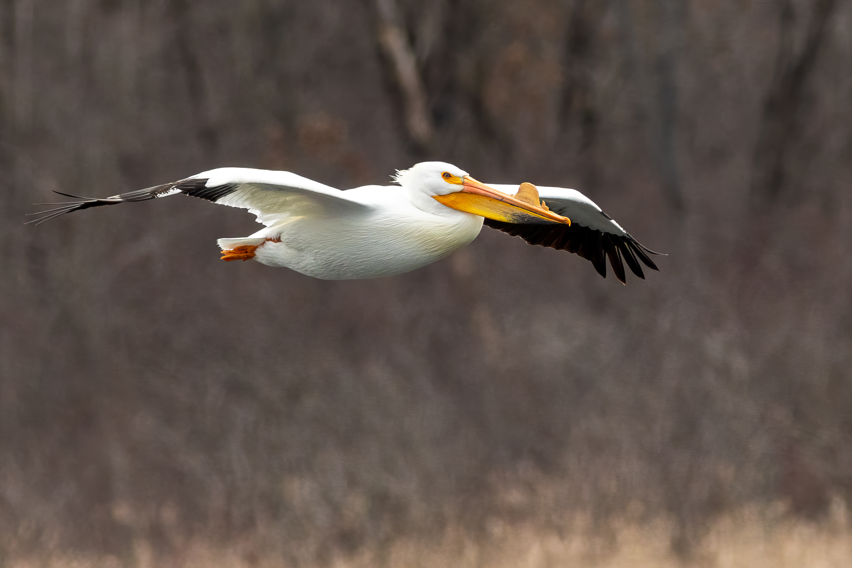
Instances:
[[[517,192],[518,186],[486,184],[504,193]],[[607,278],[607,258],[615,278],[625,284],[625,265],[644,279],[642,265],[659,271],[648,255],[660,255],[648,249],[626,232],[612,217],[604,213],[590,198],[564,187],[538,187],[538,196],[551,211],[566,216],[571,225],[526,225],[486,219],[485,225],[521,237],[528,244],[567,250],[591,261],[596,271]]]

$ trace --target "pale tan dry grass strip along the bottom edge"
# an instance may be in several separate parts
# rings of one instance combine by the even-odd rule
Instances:
[[[210,542],[192,542],[176,556],[164,559],[157,558],[147,543],[138,541],[134,553],[125,559],[54,556],[13,562],[9,568],[839,568],[852,562],[850,528],[849,511],[837,499],[828,516],[819,522],[796,519],[781,504],[726,514],[708,528],[688,558],[671,552],[672,523],[666,519],[620,520],[602,530],[578,517],[570,527],[561,529],[494,522],[488,534],[479,537],[450,529],[436,540],[403,538],[383,548],[332,555],[323,561],[303,557],[295,564],[271,550],[259,552],[250,542],[227,549]],[[310,554],[308,550],[302,552]]]

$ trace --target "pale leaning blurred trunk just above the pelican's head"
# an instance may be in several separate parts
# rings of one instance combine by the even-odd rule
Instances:
[[[378,15],[378,41],[394,69],[402,90],[406,129],[412,140],[423,147],[432,143],[434,129],[426,103],[426,89],[417,71],[417,58],[402,27],[395,0],[375,0]]]

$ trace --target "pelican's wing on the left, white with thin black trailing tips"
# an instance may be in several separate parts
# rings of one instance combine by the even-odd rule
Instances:
[[[179,193],[206,199],[215,204],[249,209],[250,213],[257,215],[258,222],[267,226],[275,225],[293,215],[334,215],[352,213],[356,209],[367,207],[353,198],[348,198],[346,192],[308,180],[301,175],[250,168],[211,169],[185,180],[102,199],[56,193],[82,201],[42,204],[59,207],[32,213],[30,215],[41,216],[29,222],[39,225],[80,209],[147,201]]]

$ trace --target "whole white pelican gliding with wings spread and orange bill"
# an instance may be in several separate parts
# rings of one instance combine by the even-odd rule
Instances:
[[[659,270],[613,218],[582,193],[561,187],[484,184],[443,162],[397,172],[395,186],[347,191],[301,175],[267,169],[211,169],[184,180],[110,198],[81,198],[37,214],[59,215],[184,194],[249,209],[265,225],[248,237],[220,238],[223,261],[254,259],[315,278],[378,278],[406,273],[469,244],[486,226],[529,244],[567,250],[607,277],[605,257],[625,282],[624,262],[645,278],[639,261]],[[542,201],[544,199],[544,201]]]

